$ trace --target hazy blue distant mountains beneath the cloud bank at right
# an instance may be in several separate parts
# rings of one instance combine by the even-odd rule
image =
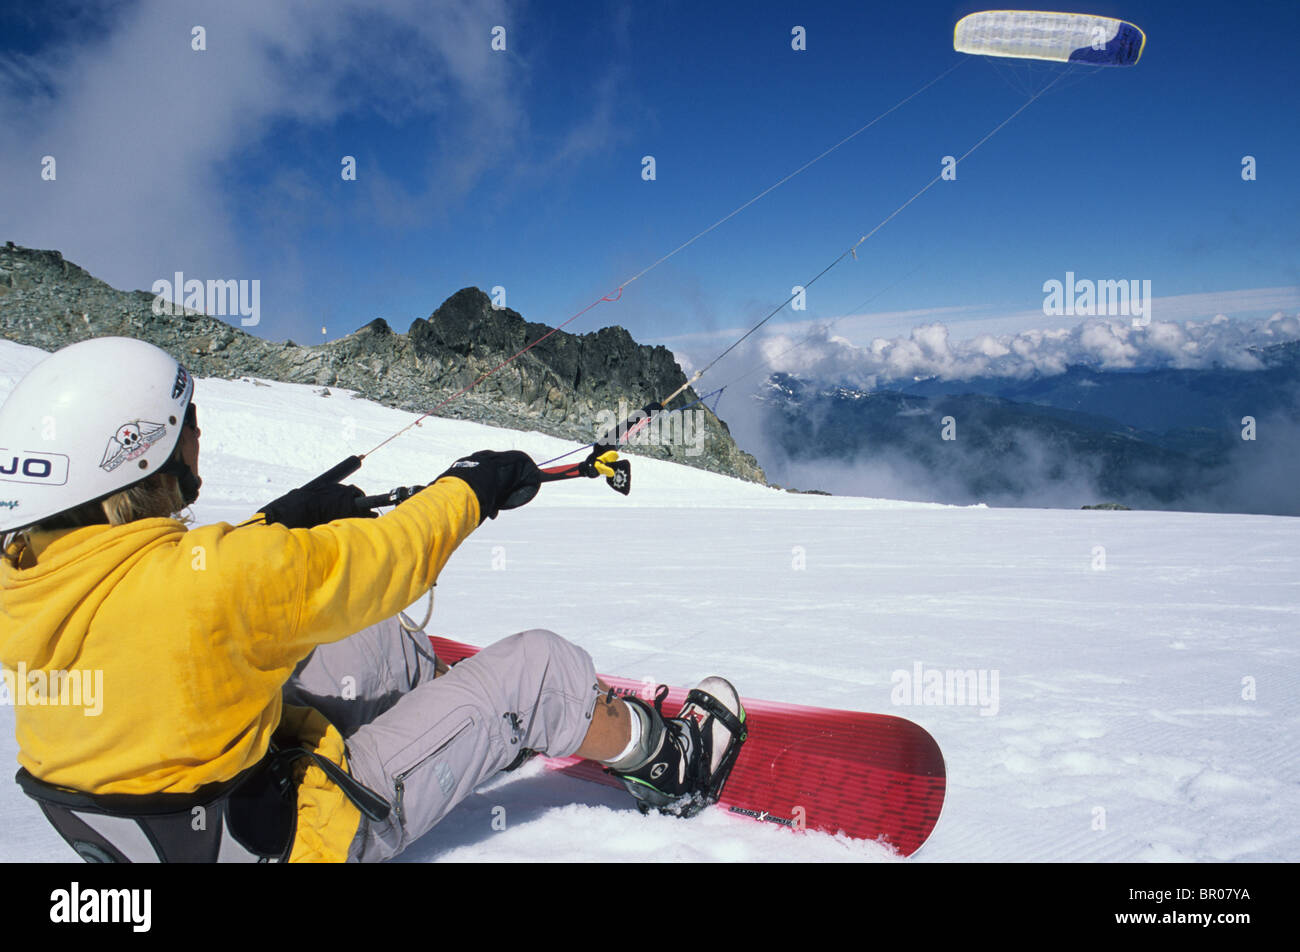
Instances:
[[[863,391],[774,375],[771,479],[837,493],[1300,515],[1300,343],[1258,371],[920,380]]]

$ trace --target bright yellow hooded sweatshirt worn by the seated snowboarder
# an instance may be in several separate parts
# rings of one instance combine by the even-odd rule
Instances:
[[[18,761],[88,793],[190,793],[256,763],[281,730],[346,766],[324,715],[285,707],[285,683],[316,645],[419,598],[477,525],[473,490],[443,479],[378,519],[312,529],[142,519],[32,533],[22,567],[0,559]],[[307,767],[291,861],[346,860],[359,822]]]

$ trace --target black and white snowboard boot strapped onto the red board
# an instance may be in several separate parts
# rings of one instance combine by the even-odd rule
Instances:
[[[745,707],[722,678],[706,678],[686,694],[675,718],[663,717],[666,687],[651,707],[638,697],[623,701],[642,718],[649,760],[630,770],[611,770],[637,800],[641,813],[651,809],[672,817],[694,817],[718,802],[741,744],[745,743]]]

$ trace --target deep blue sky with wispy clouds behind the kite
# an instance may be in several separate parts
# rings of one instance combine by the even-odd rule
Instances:
[[[954,52],[985,7],[8,4],[0,239],[118,287],[259,280],[270,339],[404,332],[468,285],[555,325],[959,64],[568,326],[707,359],[1056,75]],[[774,326],[1052,326],[1066,272],[1149,280],[1157,319],[1300,311],[1300,5],[1058,9],[1138,23],[1141,62],[1070,72]]]

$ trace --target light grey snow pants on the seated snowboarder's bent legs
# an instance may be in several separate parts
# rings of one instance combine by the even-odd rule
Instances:
[[[361,818],[348,862],[396,856],[524,748],[573,753],[598,697],[592,657],[554,632],[512,635],[434,680],[429,640],[395,618],[318,646],[285,687],[287,704],[329,718],[352,776],[393,805],[381,823]]]

